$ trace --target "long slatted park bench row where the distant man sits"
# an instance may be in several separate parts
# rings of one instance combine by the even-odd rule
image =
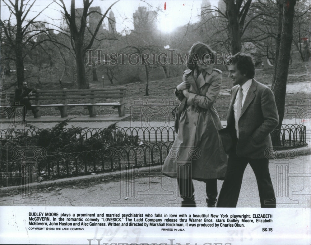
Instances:
[[[119,88],[90,88],[90,89],[62,89],[62,90],[37,90],[37,93],[31,95],[30,101],[32,107],[38,111],[35,118],[40,117],[40,107],[57,107],[61,117],[67,117],[67,108],[83,106],[88,109],[90,117],[96,116],[96,106],[110,106],[118,108],[119,116],[124,116],[124,97],[125,89]],[[15,92],[2,92],[0,98],[6,99],[11,105],[14,105]],[[110,100],[118,99],[118,102]],[[109,100],[109,101],[107,101]],[[104,101],[104,102],[99,102]],[[8,104],[2,104],[1,107],[10,107]]]

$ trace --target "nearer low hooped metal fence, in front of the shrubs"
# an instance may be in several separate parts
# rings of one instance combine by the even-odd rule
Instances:
[[[25,158],[25,153],[18,159],[0,161],[1,185],[10,186],[20,183],[25,159],[37,162],[36,175],[50,178],[62,178],[73,175],[87,175],[120,170],[121,166],[145,167],[160,165],[164,162],[173,142],[156,142],[135,146],[113,147],[100,150],[39,155]],[[25,152],[25,150],[21,150]],[[42,151],[43,152],[43,151]],[[31,155],[31,154],[30,154]]]

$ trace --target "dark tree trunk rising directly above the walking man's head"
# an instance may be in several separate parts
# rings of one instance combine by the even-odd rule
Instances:
[[[235,1],[226,1],[226,15],[232,55],[241,52],[241,31],[239,25],[239,9]]]

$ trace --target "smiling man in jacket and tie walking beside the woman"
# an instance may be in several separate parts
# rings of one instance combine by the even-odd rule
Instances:
[[[274,95],[270,88],[254,79],[255,65],[250,55],[237,53],[231,59],[229,77],[234,87],[227,132],[232,147],[217,207],[236,207],[248,163],[256,176],[261,207],[276,207],[269,160],[265,157],[265,150],[272,147],[270,133],[279,122]]]

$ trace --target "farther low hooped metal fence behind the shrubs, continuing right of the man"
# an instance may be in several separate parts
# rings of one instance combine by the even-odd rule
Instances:
[[[104,129],[105,128],[83,128],[81,130],[81,135],[87,139],[96,133],[100,133]],[[16,137],[25,134],[33,136],[35,134],[39,134],[42,130],[43,129],[0,129],[0,137]],[[139,139],[144,142],[174,141],[176,137],[174,127],[125,127],[115,129],[114,133],[124,133],[131,136],[138,136]],[[285,146],[285,144],[295,146],[299,142],[306,143],[307,130],[305,125],[283,124],[281,126],[281,130],[275,129],[272,134],[279,134],[282,146]]]

